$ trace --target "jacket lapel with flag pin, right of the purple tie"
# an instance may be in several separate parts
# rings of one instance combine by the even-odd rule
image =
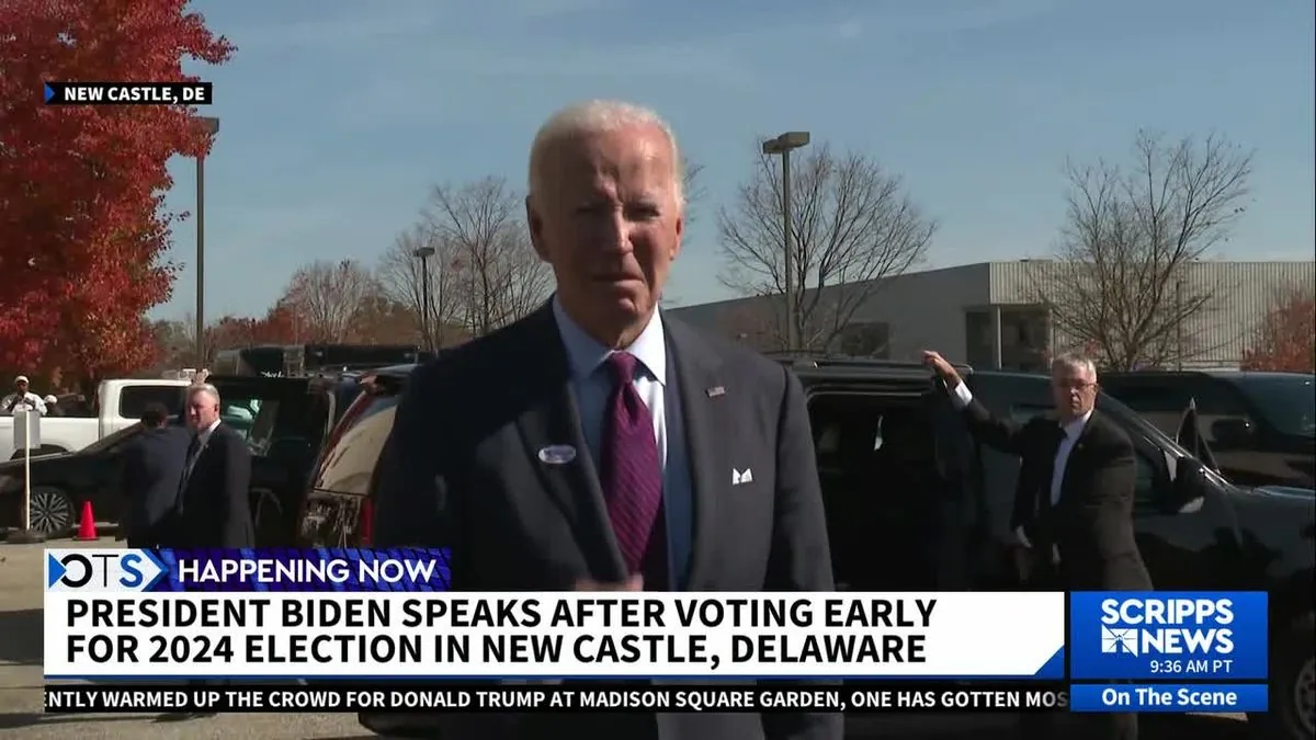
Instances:
[[[726,396],[736,388],[725,386],[717,353],[683,324],[663,317],[663,330],[671,345],[676,370],[686,449],[690,454],[690,483],[694,495],[694,532],[687,587],[699,589],[713,553],[719,516],[719,494],[726,486],[730,465],[726,441],[734,433]],[[716,392],[716,391],[721,392]],[[711,392],[713,391],[713,392]],[[679,579],[678,579],[679,581]]]

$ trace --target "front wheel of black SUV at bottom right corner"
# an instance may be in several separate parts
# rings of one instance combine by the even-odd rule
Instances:
[[[1248,715],[1258,739],[1316,737],[1316,615],[1298,619],[1274,643],[1270,658],[1270,711]]]

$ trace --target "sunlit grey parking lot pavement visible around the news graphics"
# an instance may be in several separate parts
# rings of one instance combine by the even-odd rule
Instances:
[[[50,542],[50,546],[116,546],[97,542]],[[0,739],[14,740],[184,740],[251,737],[261,740],[372,740],[354,715],[245,714],[190,722],[159,722],[158,715],[42,715],[41,599],[42,545],[0,544]],[[849,718],[849,737],[933,740],[963,737],[1005,740],[1013,727],[1001,715],[917,715]],[[1145,737],[1191,733],[1195,740],[1242,740],[1237,718],[1192,716],[1145,720]]]

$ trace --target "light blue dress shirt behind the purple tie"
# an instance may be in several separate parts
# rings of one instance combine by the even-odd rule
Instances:
[[[572,321],[562,309],[557,296],[553,298],[553,315],[558,323],[562,345],[566,348],[580,428],[590,448],[590,460],[595,461],[597,469],[597,461],[603,454],[604,415],[608,410],[608,395],[612,392],[612,378],[603,363],[613,350],[595,341]],[[654,311],[649,325],[624,352],[640,361],[640,370],[633,382],[654,419],[658,460],[663,467],[662,496],[667,524],[669,587],[680,590],[686,585],[686,570],[690,565],[694,489],[680,413],[680,394],[675,373],[669,373],[667,341],[661,312]]]

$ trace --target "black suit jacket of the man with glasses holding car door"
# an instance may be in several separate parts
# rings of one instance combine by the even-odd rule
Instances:
[[[1009,424],[992,416],[976,399],[965,415],[974,436],[1023,458],[1011,531],[1023,527],[1040,554],[1055,545],[1063,587],[1075,591],[1152,589],[1152,578],[1133,539],[1137,460],[1124,429],[1094,410],[1070,449],[1059,502],[1040,506],[1042,499],[1050,500],[1051,473],[1061,444],[1055,419],[1042,415],[1023,425]]]

